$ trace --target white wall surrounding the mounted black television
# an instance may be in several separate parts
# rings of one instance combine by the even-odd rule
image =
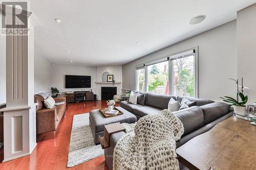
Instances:
[[[90,90],[96,89],[96,67],[92,66],[79,66],[70,64],[54,64],[52,67],[52,87],[57,87],[59,90],[74,91],[74,90]],[[65,76],[77,75],[77,76],[91,76],[91,88],[65,88]]]

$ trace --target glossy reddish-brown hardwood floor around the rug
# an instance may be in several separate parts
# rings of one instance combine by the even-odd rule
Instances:
[[[119,106],[117,104],[116,106]],[[104,156],[67,168],[69,142],[73,115],[88,113],[90,110],[106,107],[106,101],[70,103],[66,117],[62,117],[56,138],[53,132],[37,136],[37,146],[31,155],[0,163],[0,169],[108,169]],[[1,162],[4,158],[3,148],[0,150]]]

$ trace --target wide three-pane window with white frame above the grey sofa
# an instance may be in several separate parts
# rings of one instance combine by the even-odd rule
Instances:
[[[198,97],[197,48],[136,66],[137,91]]]

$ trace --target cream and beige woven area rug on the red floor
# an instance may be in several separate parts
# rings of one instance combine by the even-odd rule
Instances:
[[[89,113],[73,117],[67,167],[73,167],[104,154],[100,144],[95,145],[89,125]]]

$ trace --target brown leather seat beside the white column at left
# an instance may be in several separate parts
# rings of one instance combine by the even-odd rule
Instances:
[[[41,95],[34,95],[36,106],[36,134],[53,131],[54,138],[56,129],[63,114],[66,114],[66,98],[54,98],[55,102],[65,102],[65,104],[54,106],[51,109],[45,107],[44,98]]]

